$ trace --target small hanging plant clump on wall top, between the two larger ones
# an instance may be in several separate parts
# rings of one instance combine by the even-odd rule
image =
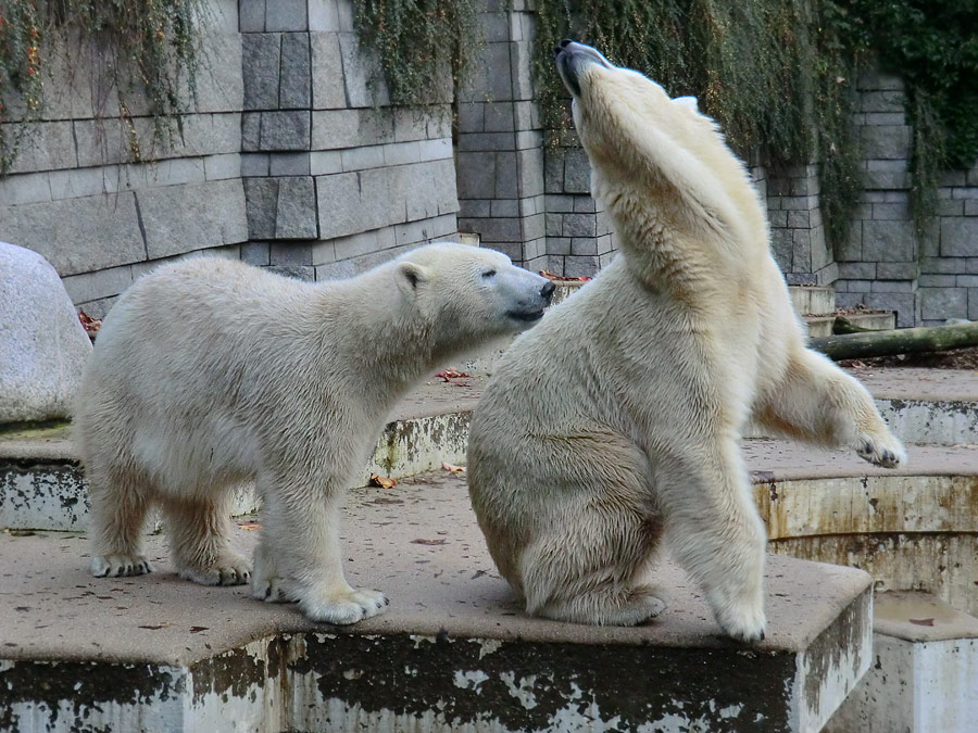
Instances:
[[[397,104],[451,101],[481,47],[479,0],[353,0],[360,42]],[[451,83],[451,84],[449,84]]]

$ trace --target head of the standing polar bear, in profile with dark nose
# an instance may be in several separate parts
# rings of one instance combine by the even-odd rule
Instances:
[[[554,286],[501,252],[468,244],[427,244],[394,261],[404,298],[439,341],[484,341],[523,330],[543,316]]]

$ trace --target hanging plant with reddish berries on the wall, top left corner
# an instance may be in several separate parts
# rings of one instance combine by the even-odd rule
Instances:
[[[0,173],[27,129],[4,123],[43,118],[51,62],[61,53],[73,68],[73,54],[87,49],[118,100],[99,113],[127,122],[131,157],[141,160],[129,109],[145,100],[154,139],[175,130],[181,88],[196,92],[203,53],[197,28],[206,12],[206,0],[0,0]]]

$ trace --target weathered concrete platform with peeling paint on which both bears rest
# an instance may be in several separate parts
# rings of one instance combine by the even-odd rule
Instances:
[[[698,589],[638,628],[523,615],[464,479],[352,492],[343,557],[384,615],[315,625],[243,587],[92,579],[84,538],[0,535],[0,721],[32,731],[817,731],[872,661],[862,571],[769,558],[764,642],[720,637]],[[259,517],[259,521],[260,521]],[[248,552],[256,532],[240,529]]]

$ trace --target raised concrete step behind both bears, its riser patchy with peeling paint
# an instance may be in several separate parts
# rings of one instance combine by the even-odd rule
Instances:
[[[856,369],[877,406],[907,443],[978,444],[978,375],[949,369]],[[393,410],[360,483],[371,473],[404,478],[442,462],[465,463],[468,420],[485,374],[431,377]],[[757,432],[757,437],[763,431]],[[255,508],[241,491],[235,514]],[[0,528],[82,530],[87,489],[67,428],[0,435]]]

